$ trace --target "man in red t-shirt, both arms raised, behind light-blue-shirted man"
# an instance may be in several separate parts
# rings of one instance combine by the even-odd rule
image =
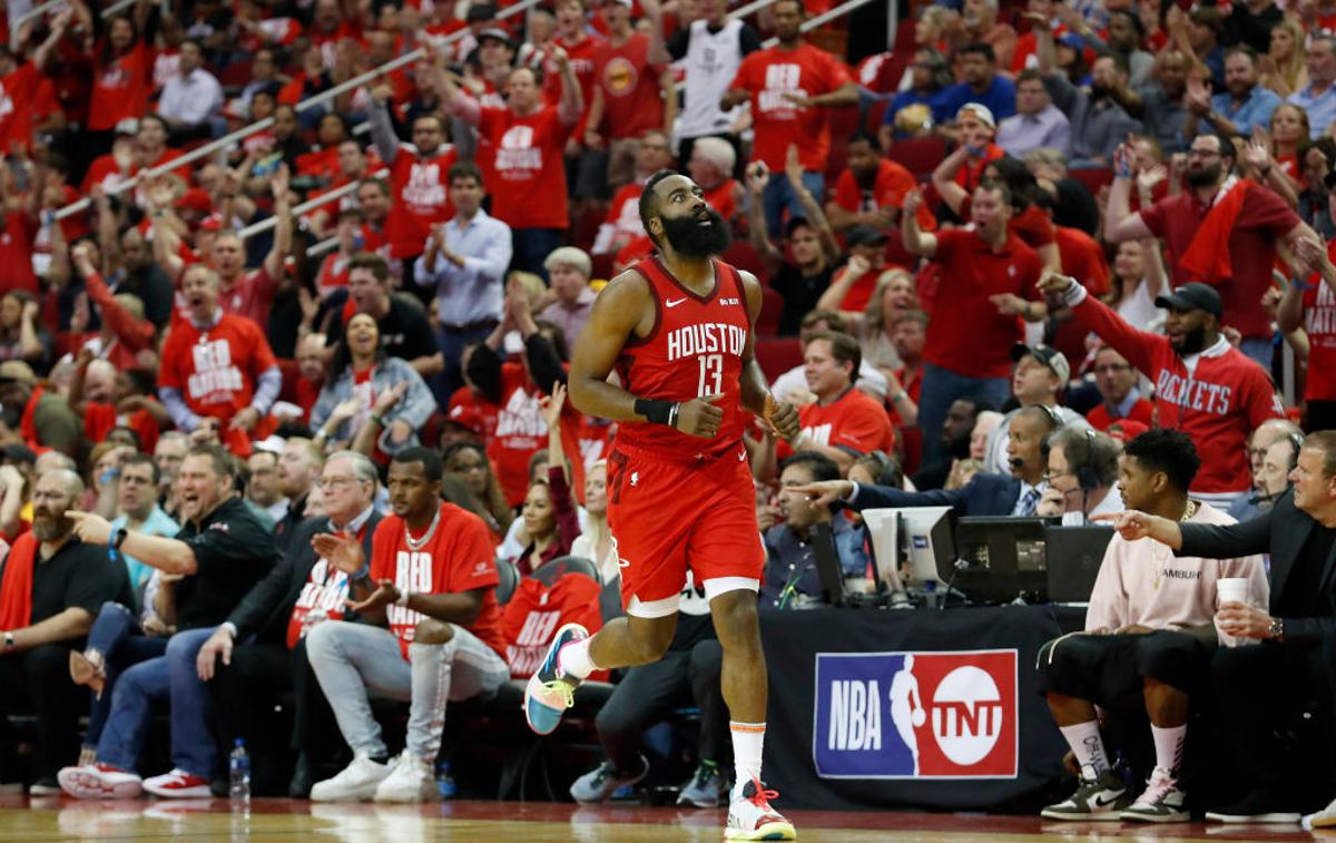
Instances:
[[[492,215],[510,226],[514,258],[510,269],[546,278],[542,262],[561,246],[570,214],[566,208],[566,170],[562,150],[584,112],[580,81],[570,59],[560,47],[549,52],[561,73],[561,103],[542,99],[542,71],[517,67],[510,71],[505,108],[488,108],[460,91],[437,65],[441,100],[446,110],[476,126],[489,144],[493,160],[488,182]]]

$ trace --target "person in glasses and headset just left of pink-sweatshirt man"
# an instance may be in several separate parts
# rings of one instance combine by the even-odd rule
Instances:
[[[1045,441],[1049,488],[1035,514],[1062,517],[1066,526],[1079,526],[1094,516],[1122,512],[1118,482],[1118,453],[1113,438],[1089,428],[1059,428]]]

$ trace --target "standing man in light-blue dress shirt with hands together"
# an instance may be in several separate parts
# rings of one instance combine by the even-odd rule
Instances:
[[[433,391],[441,406],[464,386],[464,347],[486,339],[501,321],[505,270],[513,254],[510,227],[482,210],[482,171],[462,162],[450,167],[449,179],[454,219],[433,226],[413,267],[420,285],[436,287],[437,345],[445,371],[433,378]]]

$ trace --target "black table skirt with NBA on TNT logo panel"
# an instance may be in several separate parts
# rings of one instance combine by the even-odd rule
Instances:
[[[1035,657],[1083,621],[1053,605],[763,612],[767,784],[830,810],[1039,798],[1066,744]]]

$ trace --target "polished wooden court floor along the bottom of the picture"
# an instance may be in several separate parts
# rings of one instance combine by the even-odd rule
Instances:
[[[1185,843],[1332,840],[1285,826],[1051,823],[1034,816],[900,811],[790,811],[799,840],[820,843]],[[0,840],[329,840],[347,843],[704,843],[723,838],[723,811],[639,806],[448,802],[428,806],[311,804],[257,799],[248,815],[227,800],[77,802],[0,798]]]

